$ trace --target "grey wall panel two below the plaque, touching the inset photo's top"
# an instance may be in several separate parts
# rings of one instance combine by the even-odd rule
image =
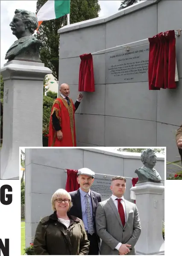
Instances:
[[[105,146],[149,145],[156,146],[156,122],[106,116]]]

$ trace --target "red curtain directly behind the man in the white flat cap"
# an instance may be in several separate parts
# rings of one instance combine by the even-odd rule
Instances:
[[[66,169],[67,170],[67,180],[66,180],[66,191],[67,192],[72,192],[75,190],[79,189],[79,184],[76,180],[77,170],[70,170],[70,169]]]

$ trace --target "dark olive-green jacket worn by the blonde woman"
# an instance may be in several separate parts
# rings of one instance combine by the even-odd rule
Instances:
[[[41,219],[33,242],[35,255],[88,255],[90,242],[82,220],[68,216],[68,229],[58,221],[56,211]]]

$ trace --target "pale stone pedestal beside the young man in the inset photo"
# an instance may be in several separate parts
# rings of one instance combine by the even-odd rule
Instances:
[[[136,243],[138,255],[164,255],[162,237],[162,194],[160,183],[144,182],[130,189],[135,192],[141,221],[141,235]]]

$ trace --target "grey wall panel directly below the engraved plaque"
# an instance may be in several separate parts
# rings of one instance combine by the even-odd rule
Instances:
[[[156,121],[156,95],[148,82],[106,84],[106,115]]]

